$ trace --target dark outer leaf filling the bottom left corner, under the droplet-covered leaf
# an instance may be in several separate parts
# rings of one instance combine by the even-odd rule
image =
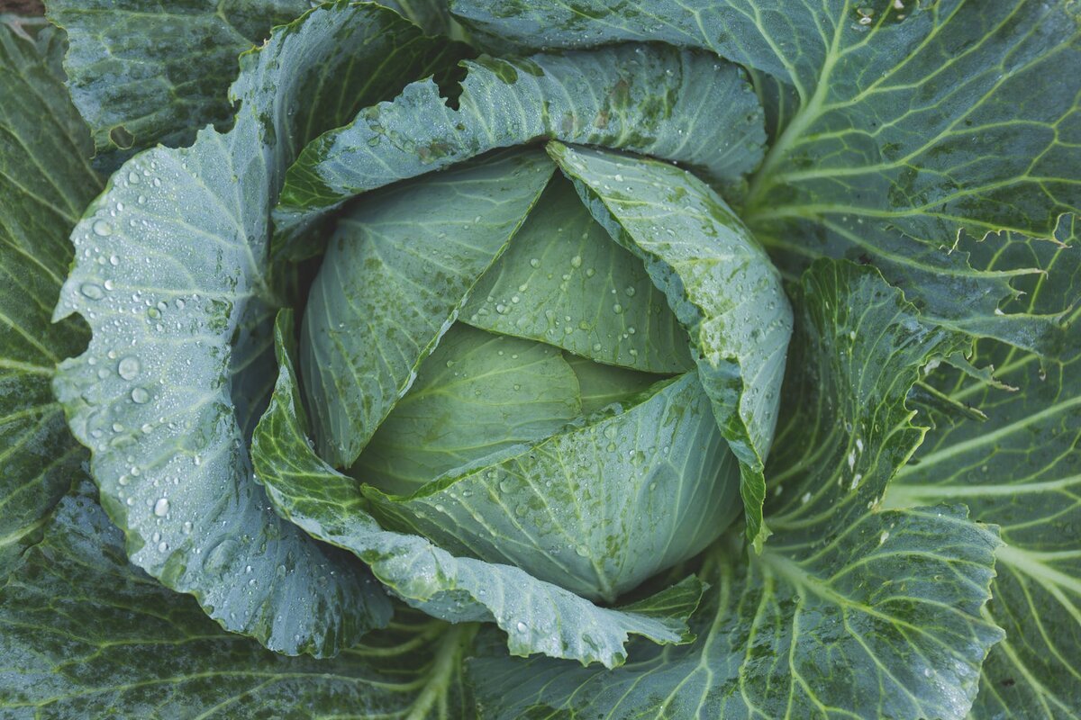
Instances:
[[[65,498],[0,589],[0,715],[24,718],[471,717],[462,660],[476,626],[409,611],[334,660],[224,631],[129,565],[93,498]]]

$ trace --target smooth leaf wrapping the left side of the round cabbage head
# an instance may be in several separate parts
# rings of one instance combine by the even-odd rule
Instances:
[[[352,465],[551,172],[538,150],[505,152],[373,193],[342,217],[301,343],[321,457]]]

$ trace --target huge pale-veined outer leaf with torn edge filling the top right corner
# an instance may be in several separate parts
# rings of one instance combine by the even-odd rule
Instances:
[[[1072,0],[453,0],[501,46],[649,40],[756,70],[783,126],[742,217],[790,270],[865,258],[931,317],[1053,354],[1060,326],[1000,314],[1022,268],[950,253],[959,231],[1050,237],[1081,206]],[[791,110],[790,99],[798,98]]]

